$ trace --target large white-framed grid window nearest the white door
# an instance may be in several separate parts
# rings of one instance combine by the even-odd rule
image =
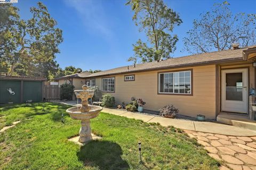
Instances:
[[[191,70],[158,74],[158,93],[192,94]]]

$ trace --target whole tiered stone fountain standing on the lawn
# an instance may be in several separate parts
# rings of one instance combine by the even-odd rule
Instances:
[[[82,106],[72,107],[66,110],[71,118],[81,120],[81,128],[79,131],[79,142],[86,143],[92,140],[90,119],[99,115],[102,107],[88,106],[88,99],[92,98],[94,90],[88,90],[86,85],[82,86],[83,90],[75,90],[76,97],[81,99]]]

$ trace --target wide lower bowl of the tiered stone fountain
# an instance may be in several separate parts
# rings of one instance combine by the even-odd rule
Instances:
[[[92,118],[97,117],[102,110],[100,106],[89,106],[90,110],[86,112],[81,112],[79,109],[81,106],[72,107],[66,110],[66,112],[70,115],[71,118],[76,120],[90,120]]]

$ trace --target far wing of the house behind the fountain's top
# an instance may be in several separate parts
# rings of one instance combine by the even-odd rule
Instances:
[[[74,90],[79,90],[84,84],[90,85],[90,80],[89,81],[85,80],[85,77],[89,75],[91,75],[91,72],[83,71],[76,74],[58,77],[58,78],[55,78],[54,80],[56,82],[59,82],[59,86],[62,84],[71,84],[75,86]],[[93,85],[93,82],[92,82],[92,85]]]

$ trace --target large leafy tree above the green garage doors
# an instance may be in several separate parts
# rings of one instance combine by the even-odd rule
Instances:
[[[30,8],[32,17],[23,20],[17,7],[0,4],[1,63],[7,64],[8,75],[20,71],[28,76],[47,76],[49,69],[59,67],[54,60],[63,41],[62,30],[55,28],[57,22],[51,18],[46,6],[41,2],[37,5]],[[44,69],[46,66],[47,70]]]

